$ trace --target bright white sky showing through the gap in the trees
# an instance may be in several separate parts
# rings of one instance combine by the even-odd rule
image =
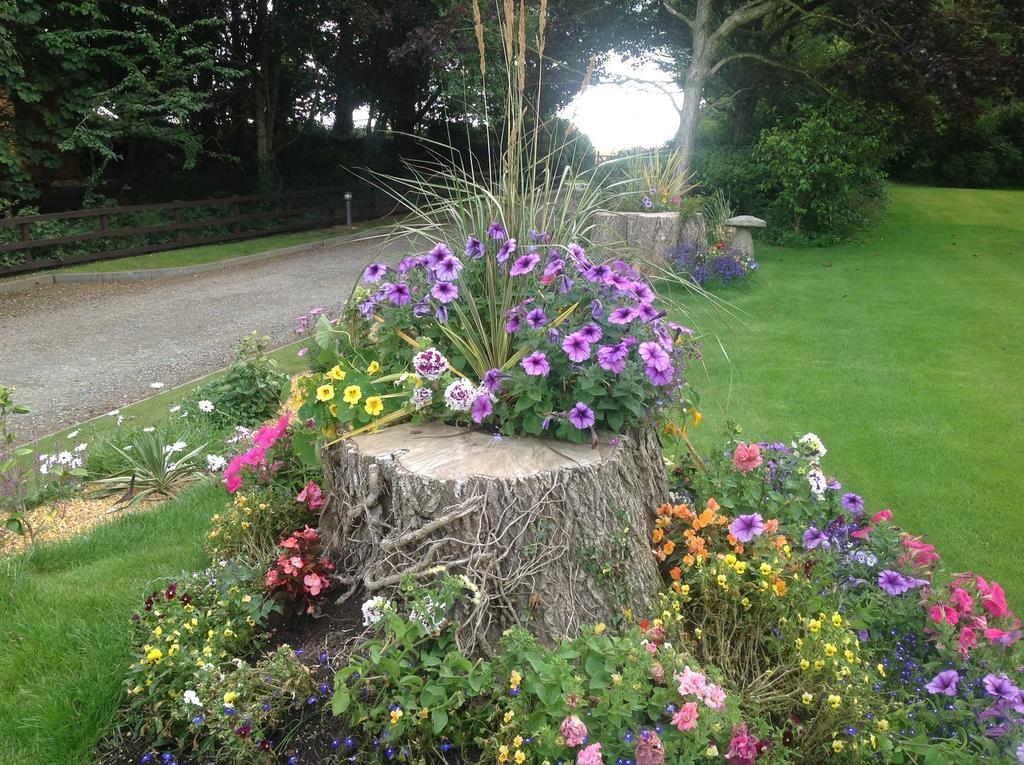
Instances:
[[[613,55],[605,67],[605,82],[591,85],[562,110],[562,117],[575,123],[599,154],[612,154],[633,146],[657,146],[676,134],[682,103],[679,87],[653,61],[641,62]],[[657,86],[623,81],[662,83]],[[610,80],[618,78],[618,82]]]

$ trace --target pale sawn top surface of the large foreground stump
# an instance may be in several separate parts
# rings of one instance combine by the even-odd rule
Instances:
[[[525,478],[550,470],[586,467],[607,460],[616,447],[568,443],[551,438],[508,438],[442,423],[403,424],[352,438],[360,455],[396,456],[409,472],[439,480],[474,475]]]

